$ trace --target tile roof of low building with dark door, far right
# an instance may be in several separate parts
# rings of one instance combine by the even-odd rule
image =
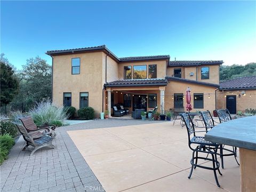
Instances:
[[[239,77],[220,82],[220,90],[256,89],[256,76]]]

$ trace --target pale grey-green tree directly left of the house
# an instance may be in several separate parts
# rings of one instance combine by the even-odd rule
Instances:
[[[15,103],[23,103],[23,107],[28,109],[35,102],[51,98],[51,66],[44,59],[28,59],[19,77],[20,93],[14,99]]]

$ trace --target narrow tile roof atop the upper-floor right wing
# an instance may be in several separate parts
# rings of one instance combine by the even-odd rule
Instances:
[[[170,61],[169,67],[175,66],[199,66],[199,65],[221,65],[222,60],[218,61]]]

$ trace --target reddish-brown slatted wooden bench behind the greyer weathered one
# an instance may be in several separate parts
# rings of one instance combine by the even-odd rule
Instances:
[[[22,125],[25,127],[28,133],[32,135],[34,139],[39,139],[43,137],[42,132],[34,132],[36,130],[44,130],[44,132],[50,132],[50,130],[55,130],[56,126],[55,125],[45,125],[45,126],[36,126],[36,124],[33,121],[33,118],[31,116],[27,117],[22,117],[19,118]]]

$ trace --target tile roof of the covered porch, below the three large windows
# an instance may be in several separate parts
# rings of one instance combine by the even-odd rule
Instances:
[[[165,79],[131,79],[131,80],[119,80],[109,83],[105,83],[105,87],[111,86],[159,86],[167,85]]]

